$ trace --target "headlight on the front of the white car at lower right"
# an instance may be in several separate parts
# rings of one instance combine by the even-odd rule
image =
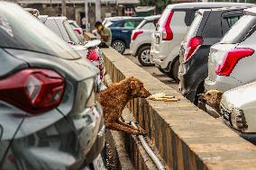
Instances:
[[[230,115],[231,125],[234,129],[245,132],[248,129],[248,125],[245,121],[244,113],[242,110],[233,109]]]

